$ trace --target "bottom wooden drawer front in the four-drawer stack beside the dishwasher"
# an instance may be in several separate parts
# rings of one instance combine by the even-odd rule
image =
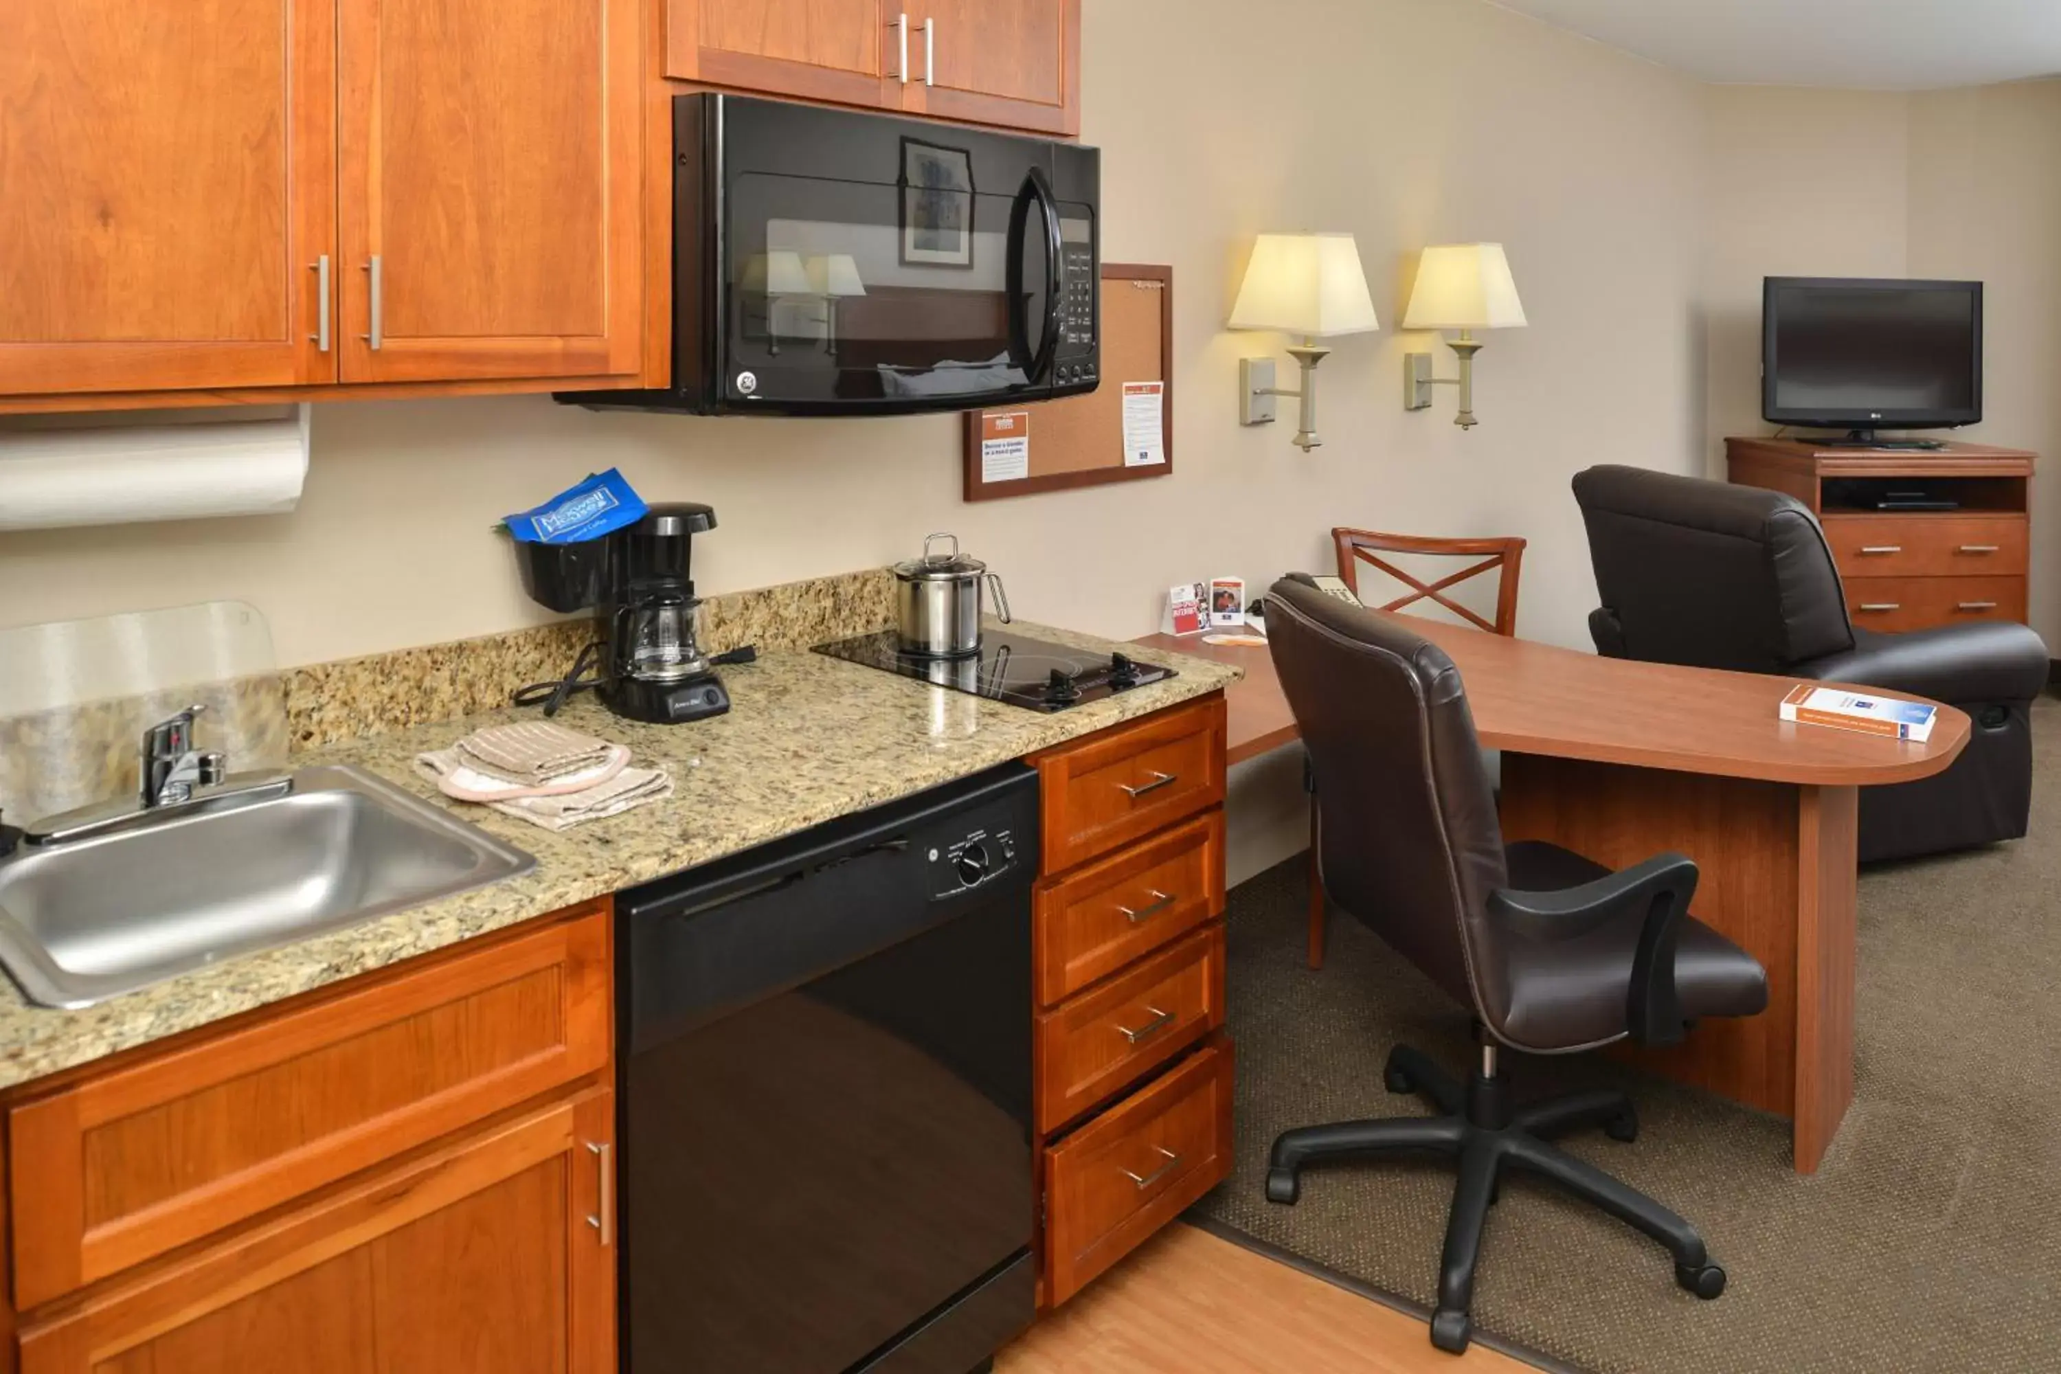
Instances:
[[[1053,1306],[1230,1174],[1230,1042],[1218,1038],[1045,1152]]]

